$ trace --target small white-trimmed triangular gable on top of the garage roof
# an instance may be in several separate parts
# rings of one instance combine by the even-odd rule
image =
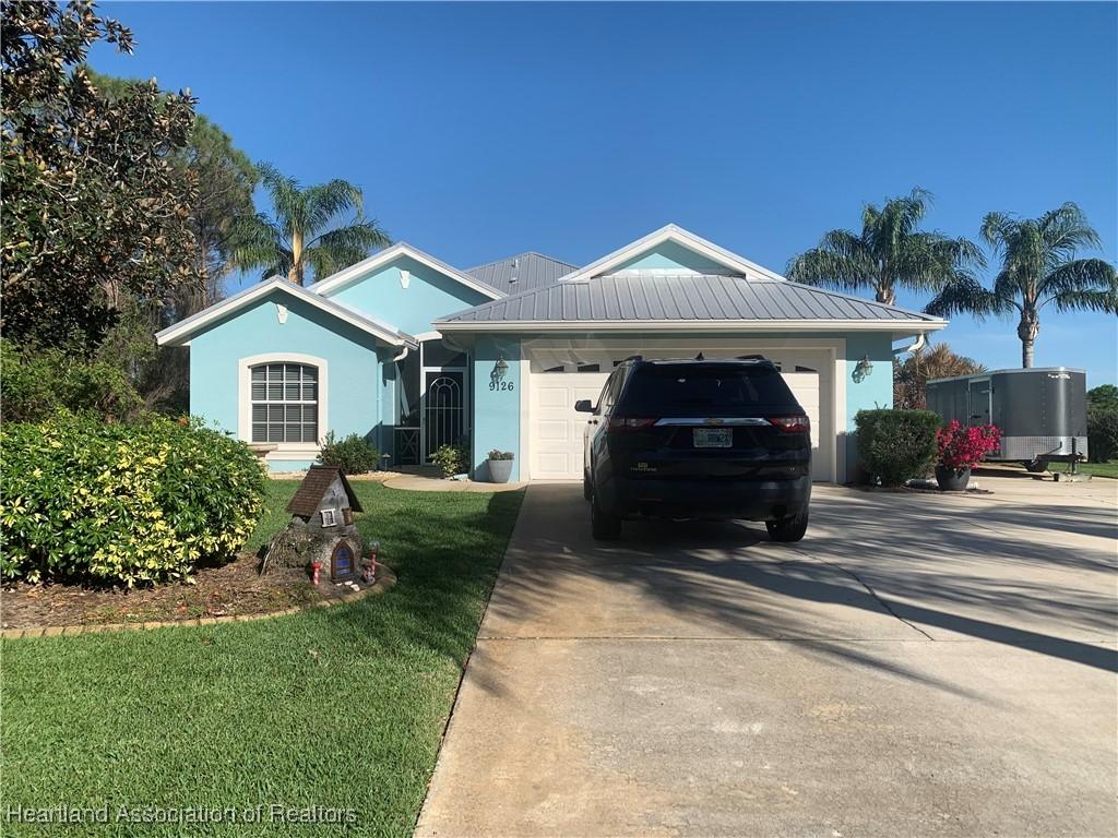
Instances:
[[[636,267],[646,259],[651,260],[647,264],[647,269],[642,270]],[[691,264],[683,264],[684,261]],[[675,267],[672,266],[672,263],[675,264]],[[563,277],[563,282],[577,282],[618,272],[634,270],[652,274],[666,270],[675,275],[680,273],[707,273],[746,276],[754,279],[784,279],[779,274],[695,236],[682,227],[667,225],[607,256],[603,256],[585,268],[568,274]]]

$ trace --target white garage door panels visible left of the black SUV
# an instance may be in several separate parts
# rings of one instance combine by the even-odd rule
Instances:
[[[608,372],[537,372],[530,393],[531,455],[533,480],[582,478],[582,430],[586,413],[575,411],[575,402],[598,402]]]

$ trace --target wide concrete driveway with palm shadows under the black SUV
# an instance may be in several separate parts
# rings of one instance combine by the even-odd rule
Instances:
[[[1114,836],[1118,483],[823,487],[807,539],[532,485],[420,836]]]

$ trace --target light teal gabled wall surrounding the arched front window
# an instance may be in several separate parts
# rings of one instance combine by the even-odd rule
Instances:
[[[281,324],[275,303],[287,306]],[[383,450],[383,383],[376,340],[311,305],[275,292],[226,317],[190,342],[190,412],[237,432],[239,361],[268,352],[296,352],[326,361],[326,421],[320,435],[359,434]],[[311,459],[269,458],[272,470],[306,468]]]

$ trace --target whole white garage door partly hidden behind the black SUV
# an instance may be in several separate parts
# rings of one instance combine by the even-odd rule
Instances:
[[[617,353],[612,353],[617,354]],[[632,354],[632,353],[626,353]],[[679,358],[681,353],[673,353]],[[749,354],[747,351],[721,350],[708,356],[733,356]],[[834,432],[830,425],[830,411],[825,404],[830,394],[830,377],[826,358],[815,358],[809,353],[790,353],[779,358],[769,352],[768,356],[779,363],[785,380],[803,406],[812,421],[812,479],[827,482],[834,479],[833,450]],[[582,431],[588,416],[575,411],[575,402],[589,399],[597,402],[613,359],[595,359],[580,353],[580,363],[557,363],[555,356],[531,363],[529,387],[529,439],[528,466],[533,480],[574,480],[582,477]],[[624,358],[620,354],[617,360]],[[589,361],[597,360],[603,372],[576,372],[579,365],[586,369]],[[807,366],[806,364],[812,364]],[[553,370],[546,372],[546,369]],[[561,370],[561,371],[560,371]],[[824,375],[827,379],[822,380]]]

